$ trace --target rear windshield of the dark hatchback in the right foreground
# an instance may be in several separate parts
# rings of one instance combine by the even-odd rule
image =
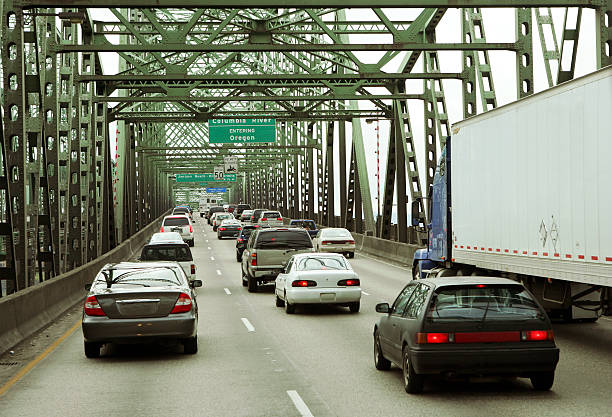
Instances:
[[[476,284],[443,287],[427,312],[431,321],[500,321],[542,318],[531,295],[520,285]]]

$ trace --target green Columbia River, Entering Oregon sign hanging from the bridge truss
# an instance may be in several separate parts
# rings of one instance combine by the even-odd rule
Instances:
[[[276,142],[276,119],[210,119],[209,143]]]

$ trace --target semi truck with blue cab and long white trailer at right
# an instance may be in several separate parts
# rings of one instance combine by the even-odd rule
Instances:
[[[553,316],[610,311],[612,67],[459,122],[448,143],[415,276],[506,276]]]

